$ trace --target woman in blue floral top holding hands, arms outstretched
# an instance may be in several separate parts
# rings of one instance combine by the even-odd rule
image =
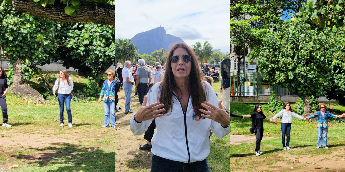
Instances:
[[[308,116],[303,118],[304,120],[312,119],[318,117],[317,121],[317,133],[319,135],[317,140],[317,149],[323,147],[328,149],[327,147],[327,132],[328,132],[328,119],[327,118],[337,118],[337,115],[331,114],[329,111],[326,111],[326,104],[322,103],[319,105],[321,110],[317,111],[314,115]]]

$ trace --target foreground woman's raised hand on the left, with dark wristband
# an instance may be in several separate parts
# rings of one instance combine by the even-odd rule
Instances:
[[[152,103],[151,105],[146,106],[146,103],[147,103],[147,97],[144,96],[144,101],[142,102],[142,105],[138,109],[137,113],[134,115],[134,118],[137,122],[146,121],[152,118],[163,116],[161,112],[163,112],[164,109],[159,109],[159,108],[163,107],[164,104],[161,104],[158,101],[156,103]]]

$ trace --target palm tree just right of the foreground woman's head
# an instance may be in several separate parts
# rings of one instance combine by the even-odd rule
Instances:
[[[192,45],[192,48],[199,57],[201,64],[203,64],[204,60],[210,60],[212,58],[213,47],[208,41],[204,42],[204,46],[201,46],[201,43],[197,42],[195,45]]]

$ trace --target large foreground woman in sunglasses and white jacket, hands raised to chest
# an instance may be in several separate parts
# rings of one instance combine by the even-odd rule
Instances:
[[[164,80],[155,84],[130,120],[142,135],[156,118],[151,139],[151,172],[209,172],[209,130],[218,138],[230,133],[230,117],[199,71],[198,57],[184,43],[167,57]]]

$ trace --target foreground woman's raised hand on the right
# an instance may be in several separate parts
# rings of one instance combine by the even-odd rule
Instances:
[[[201,114],[201,116],[208,118],[208,119],[212,119],[212,120],[220,123],[222,126],[228,126],[230,123],[230,116],[223,109],[223,106],[221,105],[222,101],[223,100],[219,100],[218,107],[216,107],[213,104],[208,103],[207,101],[204,101],[204,103],[202,103],[201,106],[203,106],[207,110],[199,109],[200,112],[204,113],[204,114]]]

